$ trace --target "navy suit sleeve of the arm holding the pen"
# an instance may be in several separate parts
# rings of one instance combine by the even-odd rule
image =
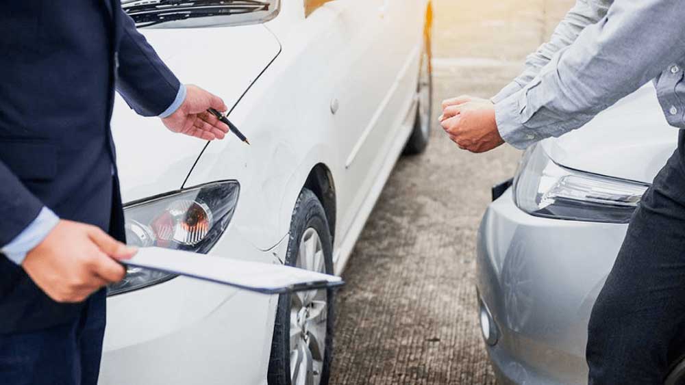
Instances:
[[[142,116],[159,116],[173,105],[182,86],[142,36],[132,18],[121,12],[116,90]]]

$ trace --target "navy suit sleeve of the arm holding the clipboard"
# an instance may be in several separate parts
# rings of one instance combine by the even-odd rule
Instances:
[[[4,248],[38,217],[44,205],[2,161],[0,185],[0,246]]]

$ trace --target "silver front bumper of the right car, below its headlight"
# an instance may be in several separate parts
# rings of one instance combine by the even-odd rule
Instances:
[[[626,230],[528,215],[511,189],[490,204],[476,284],[499,333],[486,344],[499,383],[586,383],[590,311]]]

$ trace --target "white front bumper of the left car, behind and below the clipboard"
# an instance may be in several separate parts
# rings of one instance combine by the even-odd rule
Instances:
[[[212,254],[277,263],[229,229]],[[266,385],[277,295],[177,277],[108,298],[99,384]]]

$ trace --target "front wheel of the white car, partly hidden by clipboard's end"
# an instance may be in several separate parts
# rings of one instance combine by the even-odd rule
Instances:
[[[290,222],[286,265],[333,274],[333,247],[319,198],[303,189]],[[332,290],[280,295],[269,385],[327,385],[333,356]]]

